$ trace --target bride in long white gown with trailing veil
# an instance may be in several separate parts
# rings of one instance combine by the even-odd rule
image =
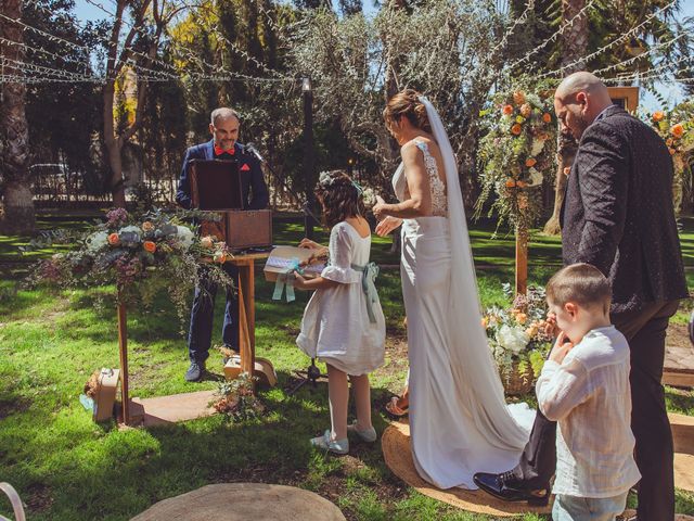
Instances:
[[[475,472],[517,463],[529,432],[505,404],[481,327],[458,168],[440,117],[411,89],[390,99],[384,117],[401,145],[393,178],[400,202],[373,212],[381,236],[402,226],[414,465],[439,488],[476,488]]]

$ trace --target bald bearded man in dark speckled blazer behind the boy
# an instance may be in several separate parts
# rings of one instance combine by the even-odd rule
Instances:
[[[564,79],[554,110],[563,130],[579,142],[561,213],[563,260],[592,264],[609,278],[611,319],[631,350],[631,428],[642,474],[634,519],[670,521],[672,435],[660,379],[669,319],[689,296],[672,206],[672,160],[663,139],[614,105],[590,73]],[[538,411],[518,466],[502,474],[478,473],[475,483],[501,499],[545,503],[555,436],[556,423]]]

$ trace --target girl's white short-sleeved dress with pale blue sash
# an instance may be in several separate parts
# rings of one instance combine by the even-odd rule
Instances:
[[[330,265],[324,277],[340,284],[317,290],[304,312],[299,348],[310,357],[351,376],[372,372],[383,365],[386,326],[377,296],[372,304],[372,322],[362,285],[369,264],[371,236],[361,237],[348,223],[335,225],[330,233]]]

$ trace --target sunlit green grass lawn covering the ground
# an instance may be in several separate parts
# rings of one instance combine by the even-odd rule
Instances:
[[[80,226],[79,220],[68,223]],[[43,220],[44,228],[54,226]],[[295,243],[297,225],[279,225],[277,243]],[[491,239],[493,225],[471,229],[485,305],[504,302],[501,283],[513,278],[513,237]],[[325,233],[320,237],[325,240]],[[694,221],[682,233],[685,263],[694,267]],[[166,497],[208,483],[262,481],[305,487],[339,506],[351,520],[486,520],[450,508],[409,488],[386,468],[378,444],[352,445],[349,456],[334,458],[308,446],[308,439],[329,423],[325,384],[305,386],[294,396],[285,390],[292,371],[308,358],[294,344],[309,295],[297,302],[271,300],[272,287],[256,278],[257,353],[272,360],[280,383],[260,396],[268,414],[243,423],[221,416],[170,427],[119,431],[114,423],[94,424],[78,402],[94,369],[117,367],[117,328],[108,289],[95,305],[95,291],[17,291],[16,276],[28,258],[16,255],[26,238],[0,236],[0,481],[12,483],[38,520],[126,520]],[[386,365],[372,377],[374,408],[400,389],[407,371],[401,341],[404,316],[398,258],[390,241],[374,238],[373,258],[385,266],[378,279],[388,321]],[[561,264],[560,242],[536,237],[530,244],[530,281],[544,283]],[[693,272],[687,274],[694,288]],[[222,300],[218,300],[213,342],[220,342]],[[684,323],[686,313],[676,321]],[[214,376],[187,383],[184,334],[164,296],[152,309],[129,313],[129,355],[133,396],[215,389],[221,359],[213,353]],[[183,325],[185,329],[187,325]],[[216,376],[216,377],[215,377]],[[694,416],[694,393],[668,389],[670,410]],[[382,432],[387,421],[374,415]],[[678,511],[694,514],[694,494],[678,492]],[[11,511],[0,499],[0,513]],[[526,521],[535,516],[520,517]]]

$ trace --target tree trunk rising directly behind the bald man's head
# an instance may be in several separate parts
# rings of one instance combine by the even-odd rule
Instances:
[[[586,0],[562,0],[562,24],[574,18],[581,9],[586,7]],[[569,75],[577,71],[583,71],[586,64],[580,61],[588,53],[588,40],[590,37],[588,26],[588,15],[583,14],[580,18],[576,18],[570,27],[562,35],[562,66],[570,65],[565,71],[565,75]],[[558,236],[562,230],[560,227],[560,213],[562,212],[562,203],[566,191],[566,175],[574,164],[576,149],[578,143],[570,136],[557,137],[557,156],[558,165],[556,168],[556,182],[554,186],[554,211],[552,217],[544,225],[544,233],[550,236]]]

